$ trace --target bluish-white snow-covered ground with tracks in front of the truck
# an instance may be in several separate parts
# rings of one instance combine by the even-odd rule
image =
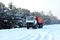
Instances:
[[[44,25],[41,29],[0,30],[0,40],[60,40],[60,24]]]

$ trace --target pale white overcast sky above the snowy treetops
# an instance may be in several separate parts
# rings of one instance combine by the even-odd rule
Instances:
[[[12,2],[16,7],[25,8],[32,12],[43,10],[46,14],[51,10],[60,19],[60,0],[0,0],[0,2],[6,6]]]

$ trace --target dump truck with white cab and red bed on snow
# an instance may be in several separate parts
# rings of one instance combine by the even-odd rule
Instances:
[[[36,16],[28,16],[26,17],[26,27],[29,29],[30,27],[36,29],[36,28],[42,28],[43,27],[43,19],[37,18]]]

